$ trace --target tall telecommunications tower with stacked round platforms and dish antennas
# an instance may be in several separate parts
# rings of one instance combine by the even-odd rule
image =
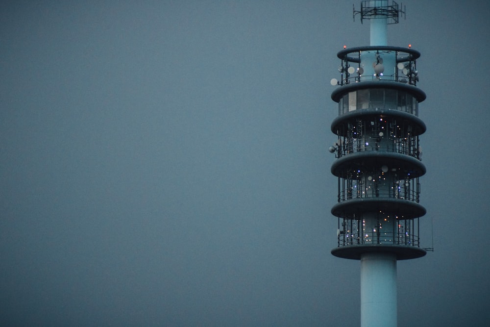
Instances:
[[[426,254],[419,247],[419,135],[416,50],[387,45],[387,26],[404,14],[395,1],[367,0],[354,9],[370,21],[370,45],[344,49],[332,100],[339,116],[331,172],[338,177],[338,247],[332,254],[361,261],[361,326],[396,326],[396,262]]]

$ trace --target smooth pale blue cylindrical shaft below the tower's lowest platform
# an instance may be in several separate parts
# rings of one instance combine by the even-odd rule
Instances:
[[[361,257],[361,327],[396,327],[396,255]]]

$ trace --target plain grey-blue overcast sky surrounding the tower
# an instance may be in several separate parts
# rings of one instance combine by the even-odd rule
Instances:
[[[0,325],[358,326],[327,151],[352,3],[2,1]],[[398,263],[398,326],[482,326],[490,5],[403,3],[435,252]]]

